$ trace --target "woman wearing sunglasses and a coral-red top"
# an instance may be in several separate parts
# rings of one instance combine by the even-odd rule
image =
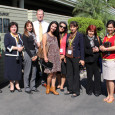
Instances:
[[[59,37],[60,37],[60,59],[61,59],[61,73],[57,74],[58,86],[60,91],[64,91],[65,76],[66,76],[66,63],[65,63],[65,52],[66,52],[66,39],[67,39],[67,23],[61,21],[59,23]]]

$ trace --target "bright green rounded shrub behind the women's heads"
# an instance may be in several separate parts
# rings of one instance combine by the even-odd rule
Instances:
[[[83,34],[86,33],[86,29],[89,25],[95,25],[97,27],[97,34],[101,37],[104,36],[104,33],[102,32],[104,29],[104,23],[101,20],[86,17],[73,17],[68,19],[68,24],[70,24],[71,21],[76,21],[78,23],[79,32]]]

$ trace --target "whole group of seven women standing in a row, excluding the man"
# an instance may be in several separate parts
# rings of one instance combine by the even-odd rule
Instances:
[[[95,96],[101,94],[101,73],[99,71],[99,57],[103,54],[103,77],[106,80],[108,96],[104,101],[111,103],[114,100],[114,67],[115,67],[115,21],[107,23],[107,36],[103,43],[97,36],[97,29],[94,25],[89,25],[86,35],[78,32],[78,23],[70,22],[70,33],[67,34],[66,22],[52,21],[47,32],[43,35],[42,45],[45,63],[51,62],[52,68],[45,68],[48,74],[46,94],[52,92],[59,95],[56,91],[56,77],[60,91],[64,91],[64,84],[67,80],[67,92],[65,95],[72,94],[71,97],[80,95],[80,72],[79,65],[86,66],[87,88],[86,93]],[[22,50],[24,49],[24,88],[26,93],[37,92],[35,87],[36,66],[38,48],[36,34],[33,24],[27,21],[24,26],[24,34],[18,32],[18,25],[11,22],[9,33],[5,35],[5,77],[10,81],[10,91],[16,89],[21,92],[19,80],[22,74]],[[48,45],[48,52],[46,52]],[[31,75],[31,77],[30,77]],[[94,75],[94,83],[93,83]],[[15,84],[15,87],[14,87]]]

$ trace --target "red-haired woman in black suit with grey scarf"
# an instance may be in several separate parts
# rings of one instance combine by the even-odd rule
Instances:
[[[90,25],[87,28],[84,39],[85,44],[85,64],[87,70],[87,88],[86,93],[95,96],[101,94],[101,74],[99,72],[99,46],[102,44],[97,36],[96,26]],[[93,83],[94,75],[94,83]]]

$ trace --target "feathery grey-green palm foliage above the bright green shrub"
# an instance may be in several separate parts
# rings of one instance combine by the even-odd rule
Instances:
[[[77,17],[100,19],[104,24],[111,19],[106,0],[77,0],[73,14]]]

